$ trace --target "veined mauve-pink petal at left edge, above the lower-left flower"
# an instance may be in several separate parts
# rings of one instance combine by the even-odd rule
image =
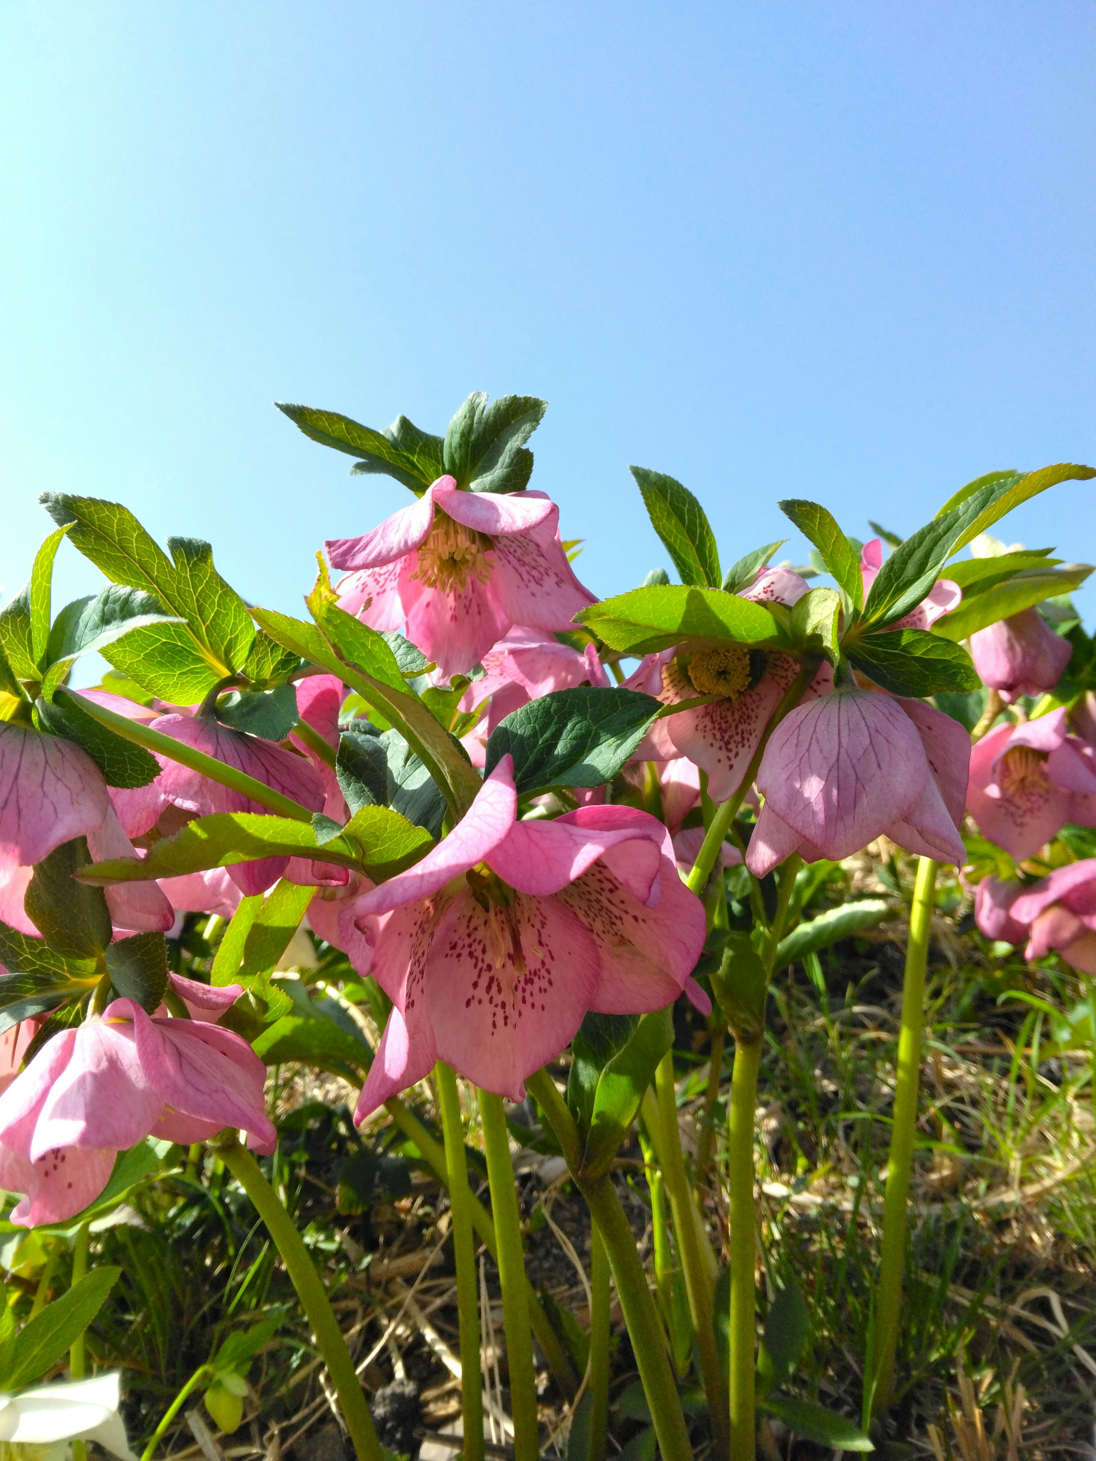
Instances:
[[[102,773],[72,741],[0,722],[0,856],[35,863],[107,815]]]

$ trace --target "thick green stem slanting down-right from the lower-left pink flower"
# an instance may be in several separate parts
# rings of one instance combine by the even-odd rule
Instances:
[[[384,1452],[377,1441],[370,1407],[365,1404],[361,1384],[354,1372],[354,1360],[346,1349],[327,1292],[316,1273],[304,1239],[297,1232],[292,1218],[278,1201],[278,1194],[266,1180],[251,1153],[237,1143],[219,1147],[218,1156],[247,1192],[251,1205],[266,1224],[275,1248],[281,1254],[285,1271],[289,1274],[305,1318],[316,1335],[327,1373],[339,1397],[342,1419],[351,1433],[354,1454],[358,1461],[383,1461]]]

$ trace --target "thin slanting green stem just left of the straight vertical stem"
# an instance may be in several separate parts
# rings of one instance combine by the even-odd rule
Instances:
[[[712,1417],[712,1455],[723,1461],[728,1455],[728,1411],[723,1373],[716,1349],[716,1331],[712,1318],[713,1284],[704,1270],[697,1242],[696,1218],[693,1216],[693,1192],[685,1175],[685,1159],[681,1151],[681,1129],[678,1126],[677,1088],[674,1083],[674,1052],[668,1050],[655,1072],[655,1090],[662,1118],[662,1178],[674,1214],[681,1270],[685,1278],[688,1309],[693,1315],[697,1354],[700,1356],[700,1378],[707,1395],[707,1410]]]

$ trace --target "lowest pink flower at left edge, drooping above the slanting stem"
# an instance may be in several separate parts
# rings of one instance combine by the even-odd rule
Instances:
[[[196,1002],[193,982],[171,977]],[[216,995],[224,1010],[225,993],[206,999]],[[148,1135],[190,1144],[238,1126],[272,1151],[265,1074],[231,1030],[149,1018],[132,999],[63,1030],[0,1096],[0,1186],[26,1194],[12,1221],[37,1227],[79,1213],[102,1192],[115,1154]]]

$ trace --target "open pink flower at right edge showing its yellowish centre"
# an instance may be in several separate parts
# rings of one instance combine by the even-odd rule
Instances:
[[[970,752],[966,806],[985,837],[1023,862],[1065,823],[1096,825],[1096,752],[1068,733],[1064,709],[998,726]]]

